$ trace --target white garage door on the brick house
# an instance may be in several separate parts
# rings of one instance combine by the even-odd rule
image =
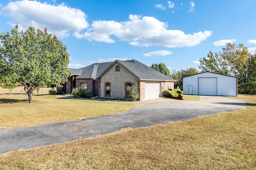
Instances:
[[[160,97],[160,82],[145,82],[145,99]]]

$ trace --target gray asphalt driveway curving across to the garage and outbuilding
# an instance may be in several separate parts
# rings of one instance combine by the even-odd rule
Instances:
[[[247,108],[242,100],[219,96],[200,97],[200,101],[156,98],[139,102],[137,107],[119,114],[33,127],[3,129],[0,130],[0,154],[96,137],[128,127],[167,124],[170,121],[183,121],[202,115],[214,115],[222,111],[231,112]]]

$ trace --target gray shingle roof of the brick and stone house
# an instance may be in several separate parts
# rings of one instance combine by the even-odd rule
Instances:
[[[76,78],[100,78],[100,76],[114,63],[120,63],[124,67],[126,67],[130,72],[132,72],[139,80],[168,80],[168,81],[175,81],[173,78],[162,74],[150,68],[149,66],[140,63],[137,60],[130,60],[130,61],[120,61],[116,60],[114,62],[109,63],[94,63],[89,66],[86,66],[82,69],[74,69],[74,70],[82,70],[80,76]]]

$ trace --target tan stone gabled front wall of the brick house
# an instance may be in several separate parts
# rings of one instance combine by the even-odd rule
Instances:
[[[119,71],[116,71],[116,66],[119,66]],[[114,64],[104,75],[101,77],[100,81],[100,97],[101,98],[112,98],[120,99],[121,96],[125,98],[126,89],[125,83],[130,82],[136,84],[138,80],[137,77],[132,74],[127,68],[119,63]],[[110,83],[110,97],[105,96],[105,83]]]

